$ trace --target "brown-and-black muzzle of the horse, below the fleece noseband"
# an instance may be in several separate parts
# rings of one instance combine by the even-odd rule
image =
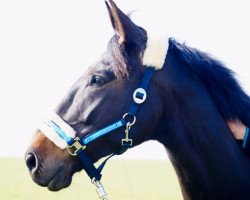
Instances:
[[[75,162],[65,156],[64,150],[57,148],[41,131],[36,132],[25,161],[32,180],[51,191],[68,187],[76,169]]]

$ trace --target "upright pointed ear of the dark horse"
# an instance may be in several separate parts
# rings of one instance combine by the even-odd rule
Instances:
[[[126,46],[133,43],[140,47],[147,39],[145,32],[134,24],[132,20],[117,7],[113,0],[108,1],[109,2],[105,1],[105,4],[119,44]]]

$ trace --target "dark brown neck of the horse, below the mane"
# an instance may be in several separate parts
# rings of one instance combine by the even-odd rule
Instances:
[[[169,153],[184,198],[250,195],[249,158],[232,138],[204,85],[171,53],[158,76],[166,115],[156,139]]]

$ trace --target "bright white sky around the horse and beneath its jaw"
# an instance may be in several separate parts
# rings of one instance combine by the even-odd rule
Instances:
[[[250,2],[117,0],[138,25],[206,51],[250,92]],[[103,0],[0,0],[0,156],[23,156],[52,110],[113,35]],[[121,99],[122,100],[122,99]],[[167,159],[157,142],[122,156]]]

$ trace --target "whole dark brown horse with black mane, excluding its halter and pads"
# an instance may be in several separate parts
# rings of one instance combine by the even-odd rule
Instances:
[[[115,32],[107,51],[55,109],[78,138],[127,113],[148,68],[142,61],[149,46],[148,31],[112,0],[106,5]],[[173,38],[164,45],[163,66],[154,70],[136,123],[131,126],[135,118],[128,119],[126,139],[133,140],[129,148],[148,140],[163,144],[184,199],[249,199],[250,158],[226,124],[240,119],[250,125],[249,96],[234,72],[212,56]],[[119,152],[123,138],[124,130],[115,129],[80,148],[95,163]],[[25,156],[32,179],[51,191],[68,187],[74,173],[86,171],[78,157],[59,146],[38,129]]]

